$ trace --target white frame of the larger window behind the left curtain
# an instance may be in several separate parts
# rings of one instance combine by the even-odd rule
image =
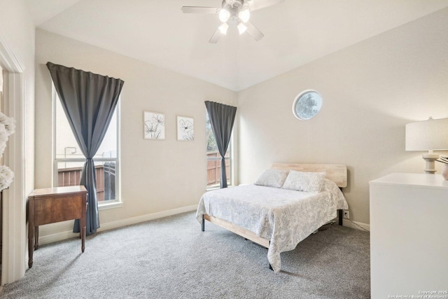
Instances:
[[[85,162],[85,158],[56,158],[56,147],[57,147],[57,101],[59,101],[59,96],[57,95],[55,85],[52,84],[52,118],[53,118],[53,132],[52,132],[52,160],[53,160],[53,171],[52,171],[52,183],[53,186],[57,187],[58,182],[58,163],[70,163],[70,162]],[[116,158],[93,158],[94,162],[115,162],[116,163],[116,199],[115,200],[107,200],[104,202],[98,202],[98,209],[111,209],[115,207],[122,207],[123,202],[121,200],[121,179],[120,179],[120,102],[121,98],[118,99],[118,103],[116,106],[117,113],[117,157]]]

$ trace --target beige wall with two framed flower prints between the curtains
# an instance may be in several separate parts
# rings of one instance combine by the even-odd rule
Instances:
[[[50,61],[125,81],[121,95],[121,197],[123,207],[100,211],[102,225],[188,207],[207,185],[205,105],[237,104],[237,93],[139,60],[36,30],[36,188],[52,185],[52,83]],[[143,139],[143,111],[165,113],[165,141]],[[176,141],[176,116],[195,120],[195,141]],[[45,225],[42,236],[71,230]]]

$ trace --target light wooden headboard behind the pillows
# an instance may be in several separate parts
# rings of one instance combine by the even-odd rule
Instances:
[[[325,172],[325,179],[334,181],[339,188],[347,186],[347,167],[345,165],[273,163],[271,168],[295,170],[296,172]]]

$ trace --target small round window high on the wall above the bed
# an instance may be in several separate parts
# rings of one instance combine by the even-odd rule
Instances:
[[[309,120],[314,118],[321,110],[322,97],[316,90],[305,90],[294,100],[293,113],[300,120]]]

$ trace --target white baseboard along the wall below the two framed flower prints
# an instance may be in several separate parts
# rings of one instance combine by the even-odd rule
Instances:
[[[137,216],[132,218],[127,218],[123,220],[101,223],[101,227],[98,228],[97,232],[103,232],[104,230],[112,230],[113,228],[121,228],[126,225],[137,224],[145,221],[150,221],[158,218],[163,218],[167,216],[173,216],[176,214],[185,213],[187,211],[195,211],[197,209],[197,204],[188,207],[181,207],[178,209],[171,209],[168,211],[160,211],[158,213],[146,214],[143,216]],[[65,232],[57,232],[56,234],[46,235],[39,237],[39,244],[49,244],[53,242],[62,241],[64,239],[71,239],[73,237],[79,237],[79,232],[74,233],[71,230]]]

